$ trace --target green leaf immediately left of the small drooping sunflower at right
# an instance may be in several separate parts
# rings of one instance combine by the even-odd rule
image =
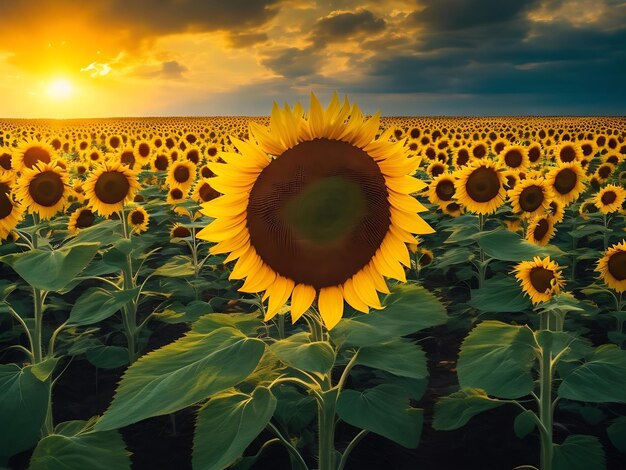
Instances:
[[[525,312],[532,304],[520,289],[515,278],[497,274],[480,289],[471,290],[469,305],[481,312]]]

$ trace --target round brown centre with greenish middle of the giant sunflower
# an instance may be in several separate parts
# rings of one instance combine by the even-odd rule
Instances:
[[[380,247],[390,225],[385,179],[347,142],[297,144],[259,175],[247,209],[250,243],[276,272],[315,288],[342,284]]]

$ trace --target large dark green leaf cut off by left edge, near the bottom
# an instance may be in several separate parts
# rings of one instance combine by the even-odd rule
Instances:
[[[37,442],[48,409],[48,387],[31,367],[0,365],[0,461]]]

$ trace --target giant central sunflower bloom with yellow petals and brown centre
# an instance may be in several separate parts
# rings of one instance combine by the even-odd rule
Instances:
[[[410,194],[423,189],[410,176],[419,161],[407,157],[391,132],[374,140],[380,118],[365,120],[358,106],[333,96],[324,110],[311,95],[300,104],[274,105],[267,128],[250,123],[249,141],[231,137],[240,153],[209,163],[211,185],[223,196],[202,212],[216,220],[198,237],[218,242],[211,252],[238,259],[232,279],[246,277],[243,292],[265,291],[266,320],[291,297],[296,321],[317,297],[326,328],[356,310],[381,308],[383,276],[406,281],[406,243],[433,229]]]

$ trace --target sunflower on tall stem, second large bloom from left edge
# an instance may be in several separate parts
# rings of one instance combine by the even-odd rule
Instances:
[[[89,207],[103,217],[121,211],[140,189],[137,174],[115,162],[94,170],[83,184]]]

